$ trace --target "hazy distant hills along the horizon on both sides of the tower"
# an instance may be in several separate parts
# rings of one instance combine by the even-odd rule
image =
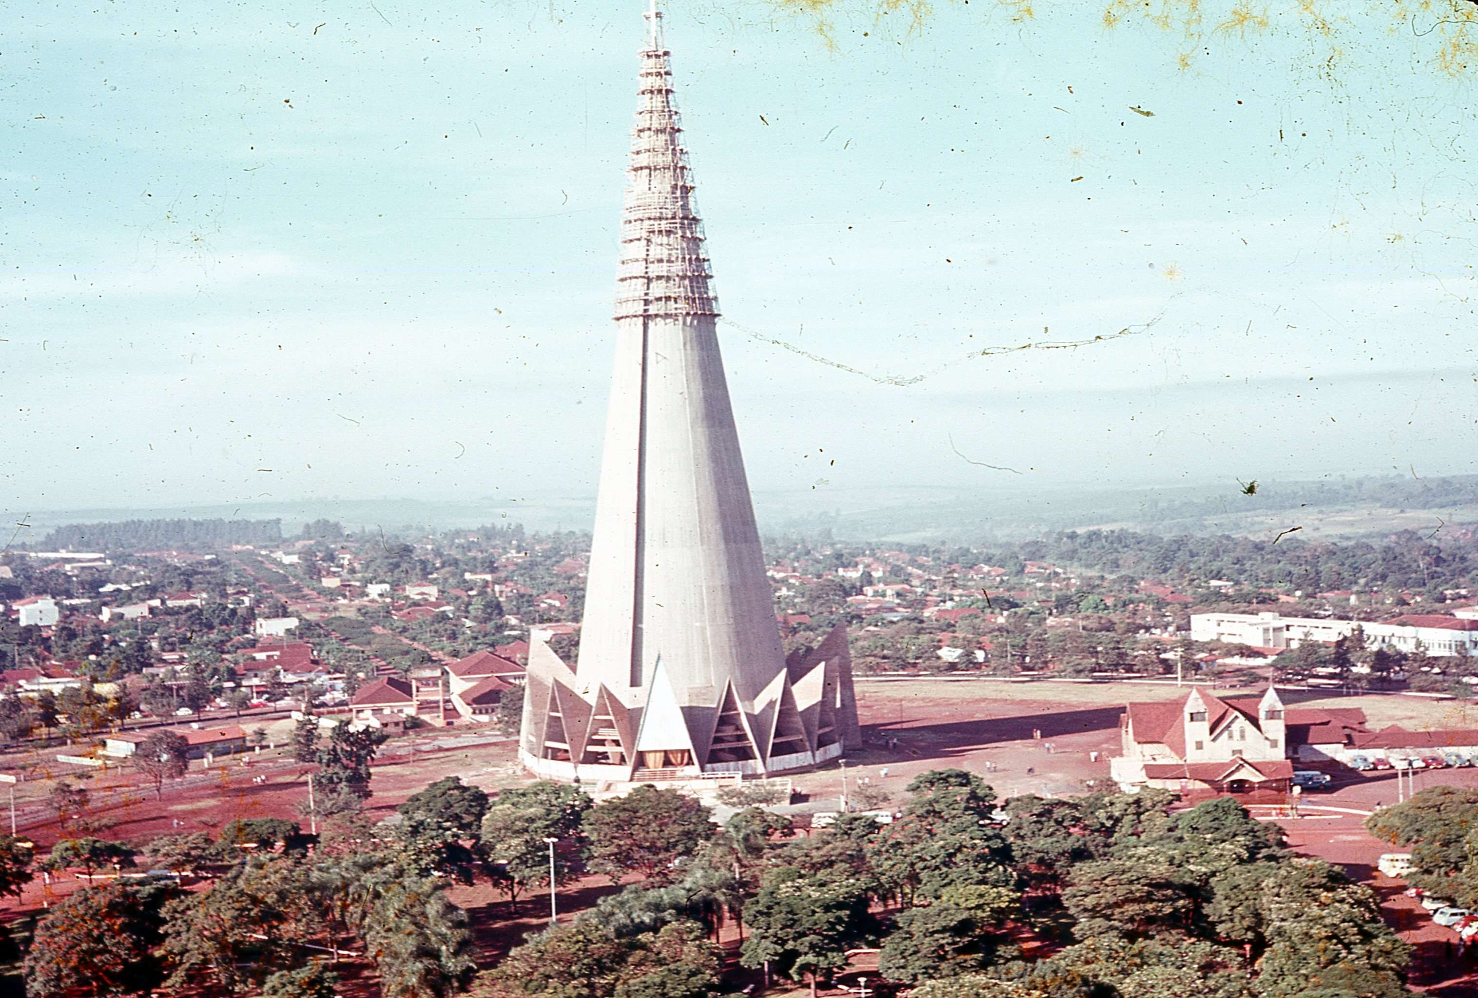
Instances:
[[[1246,485],[1250,482],[1231,479],[1174,488],[1021,488],[993,492],[900,485],[828,492],[820,501],[831,509],[823,513],[816,510],[816,492],[757,492],[754,498],[760,529],[767,535],[831,531],[838,540],[863,541],[987,543],[1095,528],[1165,537],[1233,534],[1267,540],[1290,526],[1301,526],[1301,532],[1312,540],[1379,537],[1401,529],[1426,535],[1438,528],[1451,535],[1478,525],[1478,475],[1267,481],[1258,482],[1252,492],[1244,491]],[[75,540],[72,547],[86,547],[102,541],[84,543],[83,535],[56,534],[56,528],[71,531],[74,528],[68,525],[74,523],[120,520],[279,520],[285,535],[296,535],[303,523],[327,519],[343,523],[347,531],[383,528],[398,532],[405,528],[424,532],[471,529],[482,523],[522,523],[531,531],[588,531],[594,506],[594,497],[554,494],[458,501],[300,500],[232,507],[31,513],[27,522],[31,525],[30,537],[53,531],[53,537]],[[242,516],[251,520],[239,520]],[[93,537],[98,534],[93,532]],[[50,543],[50,538],[44,541]],[[30,546],[38,544],[33,541]]]

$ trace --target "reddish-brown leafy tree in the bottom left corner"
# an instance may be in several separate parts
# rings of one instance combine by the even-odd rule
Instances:
[[[163,971],[154,948],[166,897],[166,887],[114,881],[83,887],[53,905],[25,955],[27,998],[140,995],[158,986]]]

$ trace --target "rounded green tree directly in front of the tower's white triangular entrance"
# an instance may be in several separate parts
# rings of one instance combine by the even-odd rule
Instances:
[[[717,831],[704,804],[652,784],[596,804],[581,822],[590,838],[591,869],[612,883],[633,871],[656,883],[671,880]]]

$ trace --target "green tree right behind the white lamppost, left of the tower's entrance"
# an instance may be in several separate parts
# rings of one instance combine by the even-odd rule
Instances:
[[[488,804],[482,819],[482,852],[494,880],[508,893],[517,912],[519,895],[548,881],[548,844],[556,838],[554,878],[565,881],[579,868],[585,846],[584,816],[593,801],[579,787],[539,781],[504,790]]]

